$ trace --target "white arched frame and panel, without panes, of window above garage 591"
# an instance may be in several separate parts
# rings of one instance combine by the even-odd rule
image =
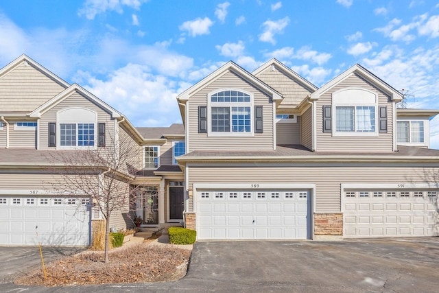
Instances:
[[[353,107],[353,131],[337,131],[337,108]],[[373,131],[361,131],[357,129],[357,117],[359,107],[374,108]],[[379,101],[377,93],[363,88],[346,88],[332,94],[332,135],[333,137],[378,137],[379,136]]]

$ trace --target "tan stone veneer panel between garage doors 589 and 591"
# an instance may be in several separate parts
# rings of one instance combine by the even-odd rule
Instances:
[[[315,213],[314,235],[316,239],[334,236],[341,238],[343,236],[343,214]]]

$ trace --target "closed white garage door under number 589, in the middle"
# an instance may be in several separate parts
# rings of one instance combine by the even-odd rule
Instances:
[[[310,239],[307,190],[198,191],[198,239]]]

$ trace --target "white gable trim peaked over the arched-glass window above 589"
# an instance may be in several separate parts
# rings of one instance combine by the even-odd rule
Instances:
[[[219,67],[219,69],[213,71],[213,73],[207,75],[205,78],[200,80],[200,82],[197,82],[193,86],[191,86],[186,91],[180,93],[178,95],[177,99],[179,101],[187,101],[189,99],[189,96],[193,93],[200,91],[200,89],[204,88],[204,86],[210,84],[214,80],[217,80],[217,78],[220,78],[222,75],[227,73],[228,71],[235,71],[241,78],[244,80],[250,82],[250,84],[253,84],[254,86],[257,86],[257,88],[261,89],[268,95],[271,95],[272,99],[282,99],[282,94],[273,89],[268,84],[265,84],[262,80],[259,80],[256,76],[252,75],[252,73],[246,71],[246,69],[240,67],[233,61],[227,62],[222,67]]]

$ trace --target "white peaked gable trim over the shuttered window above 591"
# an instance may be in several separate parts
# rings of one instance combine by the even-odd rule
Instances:
[[[388,93],[392,101],[399,102],[403,99],[403,94],[399,93],[399,91],[396,91],[396,89],[381,80],[381,78],[378,78],[377,75],[371,73],[359,64],[354,65],[353,67],[344,71],[342,74],[333,78],[333,80],[331,80],[327,84],[324,84],[324,86],[311,94],[311,99],[319,99],[320,95],[323,95],[324,93],[329,91],[329,89],[332,89],[335,85],[340,84],[340,82],[343,82],[344,80],[346,80],[346,78],[354,73],[360,75],[365,80],[368,80],[368,82],[374,84],[385,93]]]

